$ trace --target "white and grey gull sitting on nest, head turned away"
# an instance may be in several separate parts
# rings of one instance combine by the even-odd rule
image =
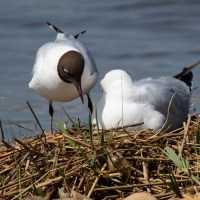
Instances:
[[[191,70],[199,63],[184,68],[174,77],[134,82],[124,70],[108,72],[100,82],[103,90],[97,104],[100,128],[110,129],[138,122],[144,124],[134,127],[136,130],[151,128],[157,131],[162,128],[172,131],[182,127],[189,113]],[[96,123],[94,114],[93,123]]]

